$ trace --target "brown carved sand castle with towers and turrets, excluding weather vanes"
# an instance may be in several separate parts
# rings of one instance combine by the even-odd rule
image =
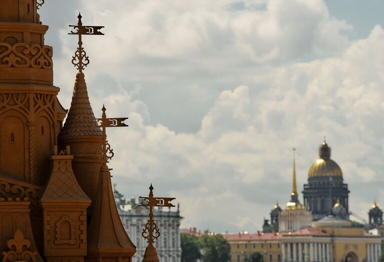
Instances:
[[[0,1],[0,260],[130,262],[136,247],[102,164],[85,75],[68,112],[53,85],[42,3]]]

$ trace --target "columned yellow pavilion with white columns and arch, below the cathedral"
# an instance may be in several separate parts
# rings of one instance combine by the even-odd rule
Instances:
[[[327,215],[304,228],[282,233],[283,261],[379,261],[381,237],[351,222]]]

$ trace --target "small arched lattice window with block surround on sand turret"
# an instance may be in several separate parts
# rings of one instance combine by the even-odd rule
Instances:
[[[76,226],[68,215],[63,215],[55,224],[55,244],[76,244]]]

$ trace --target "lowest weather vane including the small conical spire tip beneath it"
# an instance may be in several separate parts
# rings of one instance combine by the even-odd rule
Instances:
[[[174,205],[171,203],[172,200],[176,199],[174,197],[153,197],[153,186],[149,187],[149,196],[140,196],[142,199],[140,206],[148,206],[149,207],[149,219],[148,222],[145,224],[145,228],[143,229],[143,232],[141,235],[144,237],[144,239],[147,239],[148,246],[145,248],[143,261],[160,261],[159,257],[157,256],[156,247],[153,246],[153,243],[157,238],[160,237],[160,230],[157,228],[157,225],[155,223],[155,220],[153,220],[153,207],[154,206],[160,206],[160,207],[174,207]],[[151,259],[148,259],[151,258]]]

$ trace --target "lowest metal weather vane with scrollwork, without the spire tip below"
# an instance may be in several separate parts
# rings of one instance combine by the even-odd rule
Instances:
[[[153,220],[153,213],[152,208],[154,206],[167,206],[167,207],[174,207],[174,205],[171,203],[172,200],[176,199],[174,197],[153,197],[153,186],[149,187],[149,196],[140,196],[142,199],[141,204],[139,206],[148,206],[149,207],[149,219],[148,222],[145,224],[145,228],[143,229],[143,232],[141,235],[144,237],[144,239],[147,239],[148,245],[153,245],[155,240],[159,238],[160,236],[160,230],[157,228],[157,225],[155,223],[155,220]]]

